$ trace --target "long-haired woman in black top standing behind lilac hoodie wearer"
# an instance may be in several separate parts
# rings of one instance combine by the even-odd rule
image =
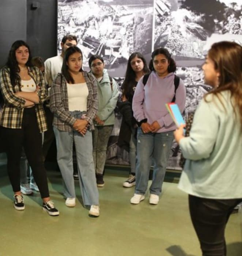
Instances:
[[[148,72],[149,69],[144,56],[139,52],[132,53],[128,59],[125,79],[122,84],[122,102],[118,102],[119,111],[123,116],[118,136],[118,146],[129,152],[131,166],[129,178],[123,183],[125,188],[135,185],[137,125],[132,111],[133,95],[138,81]]]

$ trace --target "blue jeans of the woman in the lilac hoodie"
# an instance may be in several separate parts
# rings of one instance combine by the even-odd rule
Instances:
[[[144,195],[147,190],[150,167],[153,159],[154,170],[150,193],[160,195],[173,139],[173,131],[143,133],[141,128],[138,128],[136,194]]]

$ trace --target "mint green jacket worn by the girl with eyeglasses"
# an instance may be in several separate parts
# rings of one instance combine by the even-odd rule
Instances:
[[[117,105],[118,95],[120,91],[118,90],[117,82],[112,78],[113,89],[111,88],[109,75],[107,70],[103,70],[103,78],[100,82],[97,80],[98,84],[98,112],[97,116],[105,121],[104,125],[114,124],[114,109]],[[98,126],[97,123],[94,123]]]

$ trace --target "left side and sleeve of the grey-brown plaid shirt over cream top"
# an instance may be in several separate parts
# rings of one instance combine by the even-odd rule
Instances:
[[[72,131],[76,118],[69,113],[67,82],[60,73],[57,74],[50,87],[50,111],[54,113],[54,126],[60,131]]]

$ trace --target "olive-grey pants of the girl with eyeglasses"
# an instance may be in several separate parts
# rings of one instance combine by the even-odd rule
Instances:
[[[92,131],[92,155],[97,174],[103,174],[106,162],[107,143],[109,142],[112,131],[113,125],[95,126],[94,131]]]

